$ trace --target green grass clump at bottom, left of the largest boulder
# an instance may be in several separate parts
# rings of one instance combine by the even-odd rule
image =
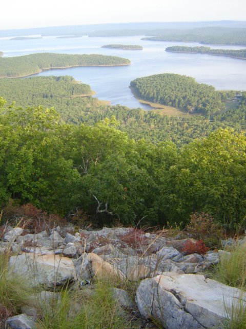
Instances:
[[[43,308],[40,329],[137,328],[113,297],[112,284],[97,280],[91,287],[66,288],[61,299]]]

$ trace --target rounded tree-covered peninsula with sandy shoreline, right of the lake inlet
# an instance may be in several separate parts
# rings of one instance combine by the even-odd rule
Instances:
[[[178,74],[138,78],[131,81],[131,88],[140,99],[174,106],[188,113],[210,115],[223,107],[213,86]]]

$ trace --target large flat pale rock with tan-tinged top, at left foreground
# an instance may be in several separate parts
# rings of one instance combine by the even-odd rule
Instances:
[[[76,271],[71,259],[55,254],[23,253],[9,260],[10,271],[25,276],[30,284],[47,287],[76,280]]]

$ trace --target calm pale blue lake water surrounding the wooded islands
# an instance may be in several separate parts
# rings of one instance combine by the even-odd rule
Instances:
[[[246,90],[246,60],[218,57],[207,54],[172,53],[165,49],[174,45],[197,46],[198,43],[157,42],[141,40],[142,36],[108,38],[57,39],[55,36],[32,40],[0,38],[0,50],[4,57],[21,56],[37,52],[97,53],[129,58],[129,66],[73,67],[44,71],[38,76],[69,75],[87,83],[96,97],[111,104],[148,108],[132,95],[131,80],[160,73],[176,73],[194,77],[199,83],[207,83],[217,90]],[[101,48],[107,44],[141,45],[144,50],[120,50]],[[210,46],[220,49],[244,49],[239,46]]]

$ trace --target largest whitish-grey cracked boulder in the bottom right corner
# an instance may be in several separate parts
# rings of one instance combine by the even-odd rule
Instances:
[[[246,307],[242,290],[194,274],[146,279],[136,293],[141,315],[166,329],[222,329],[239,299]]]

